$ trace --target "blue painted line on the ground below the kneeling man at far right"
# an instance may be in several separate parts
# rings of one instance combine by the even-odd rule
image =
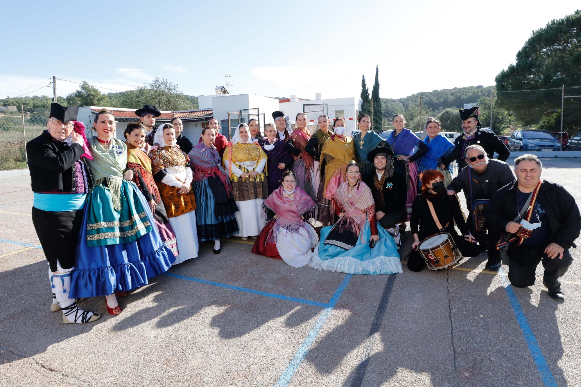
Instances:
[[[503,268],[501,268],[500,271],[501,274],[504,274],[502,273]],[[525,313],[523,313],[521,304],[519,304],[517,296],[512,290],[512,285],[510,284],[508,277],[505,275],[499,275],[498,277],[504,286],[504,290],[507,292],[512,311],[514,312],[514,316],[517,318],[518,326],[521,328],[526,345],[529,347],[530,355],[535,360],[537,370],[539,370],[539,374],[543,379],[543,384],[546,387],[557,387],[557,382],[553,377],[553,372],[551,372],[551,368],[548,367],[547,360],[545,360],[543,353],[541,352],[535,334],[533,334],[532,329],[530,329],[529,322],[526,320]]]

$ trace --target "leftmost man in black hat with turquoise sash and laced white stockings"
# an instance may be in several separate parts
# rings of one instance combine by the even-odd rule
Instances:
[[[99,313],[84,311],[69,298],[71,271],[85,196],[92,186],[85,159],[92,159],[85,126],[77,121],[78,106],[51,103],[47,130],[26,144],[31,188],[32,220],[48,260],[53,302],[51,311],[63,311],[63,324],[84,324]]]

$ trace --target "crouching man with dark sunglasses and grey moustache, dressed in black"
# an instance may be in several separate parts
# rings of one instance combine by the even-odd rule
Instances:
[[[483,221],[483,216],[482,214],[475,215],[474,202],[480,199],[490,200],[498,188],[515,181],[514,174],[507,163],[489,159],[480,145],[470,145],[466,148],[465,163],[468,167],[462,169],[446,189],[448,195],[464,191],[466,206],[469,210],[468,230],[478,241],[482,250],[488,251],[486,270],[496,271],[501,265],[500,253],[496,249],[496,242],[500,235],[494,229],[487,228],[486,223],[483,225],[480,223],[477,227],[476,222]]]

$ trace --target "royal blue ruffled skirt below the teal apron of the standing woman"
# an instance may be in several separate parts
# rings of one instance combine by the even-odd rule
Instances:
[[[99,189],[96,189],[99,188]],[[128,291],[148,284],[148,278],[164,273],[175,261],[175,256],[163,244],[156,227],[151,227],[155,221],[145,197],[135,184],[127,180],[121,185],[121,207],[139,207],[146,213],[145,226],[150,231],[137,239],[126,243],[102,246],[87,246],[87,221],[91,212],[91,200],[103,203],[101,185],[92,189],[87,196],[83,224],[77,239],[75,268],[71,273],[71,298],[107,296],[114,292]],[[110,195],[110,193],[109,193]],[[125,198],[137,199],[138,203],[128,203]],[[137,206],[136,206],[137,205]],[[138,215],[138,214],[132,214]],[[119,219],[103,218],[102,222],[119,221]]]

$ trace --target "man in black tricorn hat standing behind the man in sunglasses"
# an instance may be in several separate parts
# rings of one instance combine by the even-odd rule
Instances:
[[[504,142],[496,137],[493,132],[480,130],[480,120],[478,119],[480,110],[478,106],[470,109],[458,109],[458,112],[460,112],[464,134],[456,138],[454,141],[456,148],[450,153],[450,156],[442,159],[440,168],[445,169],[454,160],[458,160],[458,171],[467,166],[464,152],[469,145],[482,146],[486,150],[489,159],[494,158],[494,152],[498,153],[498,160],[506,161],[508,159],[510,151],[504,145]]]

